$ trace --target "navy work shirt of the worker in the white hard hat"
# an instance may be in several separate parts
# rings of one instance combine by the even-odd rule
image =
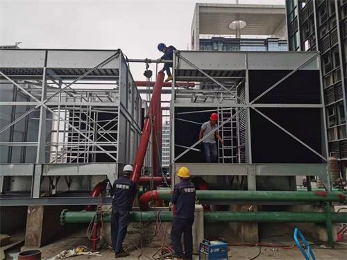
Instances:
[[[112,207],[130,211],[131,202],[136,194],[136,184],[128,177],[120,177],[113,183]]]

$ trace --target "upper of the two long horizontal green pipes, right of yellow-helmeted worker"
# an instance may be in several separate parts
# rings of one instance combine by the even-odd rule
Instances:
[[[170,191],[157,191],[162,200],[171,200]],[[321,194],[321,195],[319,195]],[[227,201],[296,201],[296,202],[334,202],[345,199],[339,191],[196,191],[198,201],[227,200]]]

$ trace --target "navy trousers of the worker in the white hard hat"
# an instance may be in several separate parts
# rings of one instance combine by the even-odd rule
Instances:
[[[123,249],[121,244],[126,237],[126,229],[128,227],[130,212],[122,209],[114,209],[112,207],[111,215],[111,241],[112,249],[119,254]]]

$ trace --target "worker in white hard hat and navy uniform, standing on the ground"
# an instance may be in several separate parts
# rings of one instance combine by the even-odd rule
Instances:
[[[126,165],[123,168],[123,176],[113,183],[113,200],[111,215],[111,241],[112,250],[115,251],[115,257],[128,257],[128,253],[121,247],[126,237],[126,229],[133,198],[136,195],[136,184],[130,180],[133,173],[133,166]]]

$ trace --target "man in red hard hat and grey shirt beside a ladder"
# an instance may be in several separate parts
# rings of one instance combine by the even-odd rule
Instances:
[[[207,121],[201,125],[199,140],[203,139],[206,135],[212,132],[217,128],[218,115],[212,113],[210,116],[210,121]],[[219,135],[219,132],[216,130],[213,134],[209,135],[203,139],[203,150],[205,152],[206,162],[217,162],[217,142],[216,138],[219,139],[221,144],[223,144],[223,139]]]

